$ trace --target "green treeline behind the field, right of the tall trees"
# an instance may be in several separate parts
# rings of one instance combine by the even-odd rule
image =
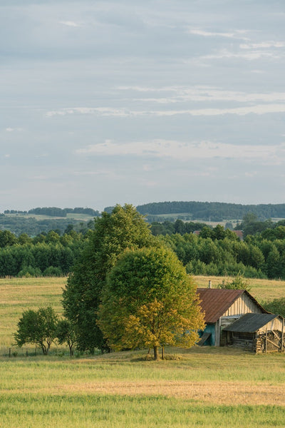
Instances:
[[[282,238],[267,230],[248,235],[242,241],[231,230],[203,228],[194,235],[165,235],[167,245],[175,251],[193,275],[244,275],[245,277],[285,279],[285,226],[275,229]]]

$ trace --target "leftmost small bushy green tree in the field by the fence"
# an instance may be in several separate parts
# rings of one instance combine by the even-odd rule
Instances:
[[[37,311],[25,310],[14,333],[16,345],[33,343],[41,347],[43,355],[48,355],[53,340],[56,338],[58,317],[51,306],[40,307]]]

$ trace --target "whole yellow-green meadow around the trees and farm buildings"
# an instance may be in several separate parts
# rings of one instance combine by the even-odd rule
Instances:
[[[196,280],[207,287],[209,277]],[[12,344],[23,310],[51,304],[61,314],[65,283],[66,278],[0,280],[1,346]],[[285,282],[266,283],[272,298],[284,293]],[[254,297],[265,288],[253,280]],[[167,349],[167,360],[155,362],[146,353],[2,354],[0,427],[284,427],[284,354],[193,347]]]

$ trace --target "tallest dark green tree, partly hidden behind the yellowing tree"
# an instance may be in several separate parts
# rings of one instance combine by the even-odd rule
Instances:
[[[96,312],[106,275],[120,253],[150,246],[154,240],[145,219],[132,205],[116,205],[112,213],[104,212],[95,219],[95,229],[63,290],[64,313],[76,326],[80,350],[92,352],[105,346]]]

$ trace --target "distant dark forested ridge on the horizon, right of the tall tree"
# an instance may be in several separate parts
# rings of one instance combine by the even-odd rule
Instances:
[[[137,210],[142,215],[169,215],[189,213],[191,220],[222,221],[243,218],[251,212],[259,220],[266,218],[285,218],[285,203],[242,205],[220,202],[158,202],[138,205]]]

